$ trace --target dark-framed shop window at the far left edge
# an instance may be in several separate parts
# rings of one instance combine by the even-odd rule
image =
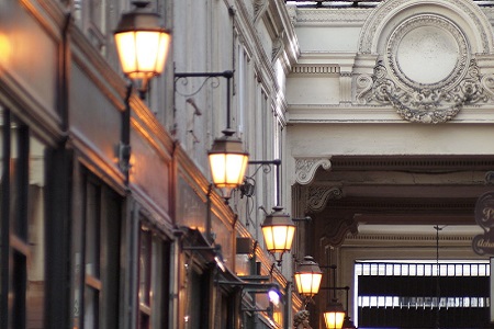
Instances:
[[[43,328],[45,146],[1,106],[0,118],[0,327]]]

